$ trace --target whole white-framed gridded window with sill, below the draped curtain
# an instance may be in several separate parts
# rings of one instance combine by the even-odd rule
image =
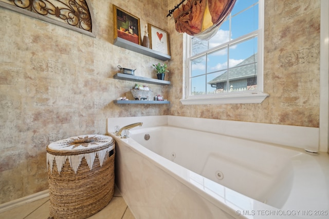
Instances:
[[[185,34],[182,104],[261,103],[264,0],[237,0],[208,41]]]

